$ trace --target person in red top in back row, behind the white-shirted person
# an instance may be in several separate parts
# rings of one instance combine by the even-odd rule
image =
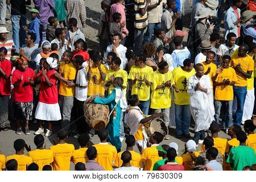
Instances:
[[[76,55],[81,55],[84,58],[84,61],[88,61],[90,59],[89,53],[87,52],[87,44],[84,40],[78,39],[75,42],[75,50],[73,51],[74,57]]]

